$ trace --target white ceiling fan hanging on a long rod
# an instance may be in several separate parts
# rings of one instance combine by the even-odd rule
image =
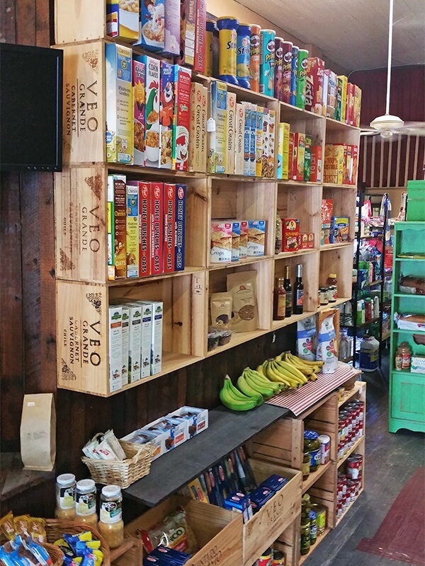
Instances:
[[[378,116],[370,122],[370,129],[363,128],[361,135],[390,138],[392,134],[411,134],[414,136],[425,136],[425,122],[403,122],[398,116],[390,114],[390,91],[391,91],[391,55],[392,55],[392,18],[394,11],[394,0],[390,0],[390,23],[388,25],[388,64],[387,64],[387,100],[385,115]]]

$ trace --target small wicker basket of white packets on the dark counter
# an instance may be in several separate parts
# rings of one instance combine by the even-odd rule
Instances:
[[[154,446],[150,442],[135,444],[120,440],[127,458],[123,461],[81,458],[96,483],[129,487],[149,473]]]

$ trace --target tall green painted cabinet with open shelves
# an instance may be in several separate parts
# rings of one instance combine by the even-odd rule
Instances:
[[[425,374],[395,369],[395,354],[402,342],[409,344],[414,356],[425,357],[425,325],[407,330],[397,328],[395,322],[395,313],[425,316],[425,295],[409,294],[399,287],[401,277],[425,278],[425,222],[396,222],[394,236],[389,430],[425,432]]]

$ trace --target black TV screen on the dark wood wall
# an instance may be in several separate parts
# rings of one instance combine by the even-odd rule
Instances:
[[[0,169],[62,171],[63,52],[0,43]]]

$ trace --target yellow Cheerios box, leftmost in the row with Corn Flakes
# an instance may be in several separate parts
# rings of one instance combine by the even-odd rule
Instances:
[[[106,43],[106,161],[133,162],[132,49]]]

